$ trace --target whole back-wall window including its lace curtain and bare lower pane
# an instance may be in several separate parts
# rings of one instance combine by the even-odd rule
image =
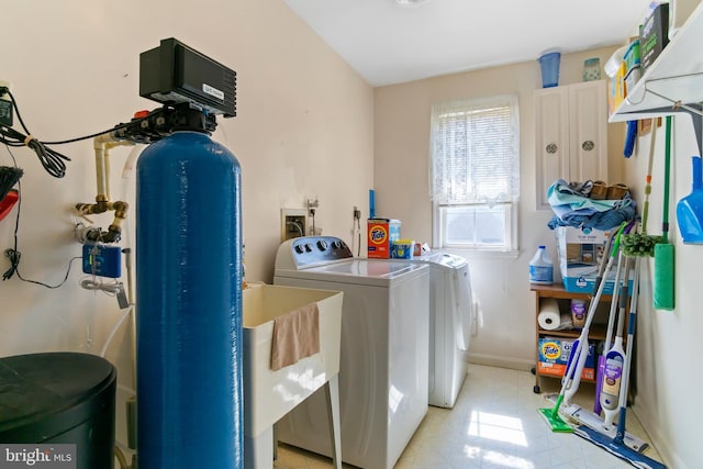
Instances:
[[[517,98],[432,107],[431,197],[434,244],[517,249],[520,123]]]

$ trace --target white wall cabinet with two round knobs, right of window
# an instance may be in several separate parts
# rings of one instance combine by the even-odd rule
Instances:
[[[538,89],[535,98],[537,209],[557,179],[607,182],[605,81]]]

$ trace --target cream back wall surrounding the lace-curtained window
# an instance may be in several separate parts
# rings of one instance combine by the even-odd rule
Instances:
[[[583,60],[600,57],[603,64],[613,49],[565,54],[560,83],[581,81]],[[536,210],[535,202],[536,191],[547,189],[536,188],[535,183],[533,92],[540,87],[540,69],[535,60],[376,89],[377,213],[400,219],[403,237],[429,244],[432,203],[427,158],[432,103],[506,93],[518,97],[518,256],[458,252],[471,260],[472,286],[481,306],[482,328],[471,343],[471,359],[476,362],[521,369],[531,369],[535,364],[535,311],[527,266],[537,246],[543,244],[548,246],[553,259],[557,258],[554,233],[547,228],[554,213]],[[622,154],[622,131],[623,124],[609,124],[609,149],[613,155]],[[620,180],[621,159],[614,156],[609,165],[613,182]]]

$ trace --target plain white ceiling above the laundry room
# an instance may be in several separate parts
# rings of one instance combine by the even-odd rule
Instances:
[[[371,86],[624,44],[651,0],[283,0]]]

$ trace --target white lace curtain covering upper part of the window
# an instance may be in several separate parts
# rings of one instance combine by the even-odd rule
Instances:
[[[514,96],[432,107],[431,197],[438,204],[512,202],[520,193]]]

